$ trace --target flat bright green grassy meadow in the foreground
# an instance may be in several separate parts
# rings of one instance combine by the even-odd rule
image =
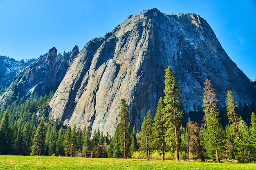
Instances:
[[[0,170],[256,170],[255,163],[0,156]]]

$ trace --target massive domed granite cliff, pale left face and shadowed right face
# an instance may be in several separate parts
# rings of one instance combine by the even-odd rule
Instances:
[[[201,108],[206,79],[216,89],[220,106],[225,105],[228,89],[238,102],[251,104],[256,99],[254,86],[203,18],[150,9],[128,16],[111,33],[86,44],[49,103],[50,116],[60,117],[65,125],[114,135],[120,101],[125,99],[138,129],[147,111],[155,114],[157,100],[164,96],[169,65],[182,89],[186,114]]]

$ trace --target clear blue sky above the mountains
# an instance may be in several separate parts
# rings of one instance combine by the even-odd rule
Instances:
[[[256,79],[256,0],[0,0],[0,55],[37,58],[79,50],[128,15],[157,8],[207,20],[229,57]]]

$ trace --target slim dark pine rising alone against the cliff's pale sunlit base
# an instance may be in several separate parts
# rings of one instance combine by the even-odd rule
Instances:
[[[130,119],[128,105],[124,99],[121,99],[120,112],[120,141],[124,146],[124,159],[127,159],[128,136],[130,133]]]

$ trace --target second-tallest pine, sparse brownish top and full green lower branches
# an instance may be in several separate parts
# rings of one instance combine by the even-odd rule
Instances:
[[[224,148],[224,131],[218,118],[217,99],[211,81],[207,79],[204,85],[203,107],[207,124],[207,131],[204,132],[205,146],[207,154],[212,157],[215,152],[216,161],[220,162],[220,154]]]

